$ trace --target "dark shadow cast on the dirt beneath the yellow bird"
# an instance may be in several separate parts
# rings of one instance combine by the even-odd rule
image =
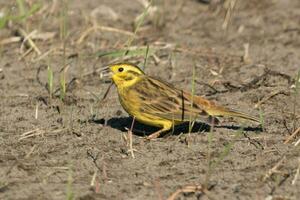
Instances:
[[[122,132],[127,132],[131,126],[132,126],[132,117],[113,117],[109,120],[105,119],[91,119],[89,120],[92,123],[96,124],[102,124],[102,125],[108,125],[114,129],[120,130]],[[231,129],[231,130],[244,130],[244,131],[252,131],[252,132],[261,132],[263,131],[261,126],[258,127],[244,127],[244,126],[227,126],[227,125],[215,125],[215,128],[226,128],[226,129]],[[192,130],[190,130],[190,124],[189,122],[185,122],[180,125],[176,125],[172,132],[173,135],[179,135],[182,133],[200,133],[200,132],[208,132],[210,131],[211,126],[205,123],[200,123],[200,122],[195,122]],[[134,121],[134,126],[133,126],[133,134],[138,135],[138,136],[146,136],[151,133],[154,133],[156,131],[160,130],[160,128],[153,127],[153,126],[148,126],[142,123],[139,123],[138,121]]]

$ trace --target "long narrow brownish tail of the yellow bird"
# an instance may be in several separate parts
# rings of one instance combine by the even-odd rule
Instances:
[[[238,117],[238,118],[247,119],[247,120],[251,120],[251,121],[260,123],[260,120],[257,117],[253,117],[251,115],[240,112],[238,110],[225,108],[222,106],[212,106],[210,108],[207,108],[206,112],[211,116]]]

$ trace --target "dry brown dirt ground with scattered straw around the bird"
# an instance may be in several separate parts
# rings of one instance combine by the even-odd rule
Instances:
[[[37,12],[0,29],[0,199],[300,199],[299,136],[286,141],[300,127],[300,1],[27,0],[26,8],[36,2]],[[0,12],[19,11],[1,0]],[[50,34],[38,39],[35,30]],[[108,63],[143,64],[144,54],[103,54],[126,44],[149,45],[145,72],[179,88],[192,90],[195,69],[197,95],[261,116],[263,128],[224,118],[212,132],[183,125],[147,141],[156,129],[136,123],[133,158],[132,119],[114,87],[102,100],[110,83],[99,78]]]

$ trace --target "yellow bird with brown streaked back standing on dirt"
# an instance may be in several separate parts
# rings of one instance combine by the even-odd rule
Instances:
[[[112,78],[120,103],[129,115],[141,123],[161,128],[147,139],[157,138],[173,125],[191,120],[211,124],[214,117],[229,116],[259,122],[256,117],[216,105],[203,97],[148,76],[133,64],[109,65],[101,75]],[[215,119],[213,123],[217,121]]]

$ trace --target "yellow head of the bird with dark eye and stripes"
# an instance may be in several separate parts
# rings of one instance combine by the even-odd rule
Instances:
[[[101,72],[102,77],[110,76],[118,88],[131,86],[144,75],[138,66],[129,63],[111,64]]]

